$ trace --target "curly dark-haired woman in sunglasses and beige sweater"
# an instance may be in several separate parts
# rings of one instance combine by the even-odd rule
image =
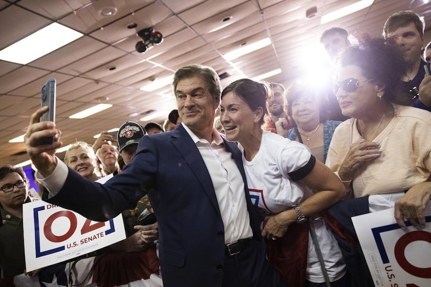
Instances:
[[[351,216],[391,207],[404,230],[404,218],[417,228],[425,226],[431,113],[397,104],[409,104],[400,81],[405,71],[403,56],[390,39],[367,38],[340,60],[334,92],[341,112],[351,119],[335,129],[326,165],[354,199],[334,205],[329,213],[353,236]],[[352,209],[356,213],[348,214]]]

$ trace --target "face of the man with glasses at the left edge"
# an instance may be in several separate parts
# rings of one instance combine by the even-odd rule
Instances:
[[[0,180],[0,187],[3,188],[22,181],[24,181],[24,179],[18,173],[11,172],[7,174],[2,180]],[[26,185],[21,188],[13,186],[12,191],[7,193],[0,191],[0,203],[3,207],[22,206],[24,201],[27,199],[27,196],[28,189]]]

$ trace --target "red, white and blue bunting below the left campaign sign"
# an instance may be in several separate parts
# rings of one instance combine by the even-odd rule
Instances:
[[[141,252],[110,253],[0,280],[0,287],[162,287],[156,246]]]

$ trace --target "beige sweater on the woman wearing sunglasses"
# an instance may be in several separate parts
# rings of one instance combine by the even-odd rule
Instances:
[[[425,110],[393,105],[395,116],[378,134],[379,158],[362,164],[345,182],[354,197],[403,191],[429,181],[431,175],[431,113]],[[326,165],[337,173],[351,143],[360,135],[356,119],[348,119],[336,129],[329,145]]]

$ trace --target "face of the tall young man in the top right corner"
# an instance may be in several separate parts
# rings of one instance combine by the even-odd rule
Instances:
[[[411,22],[388,33],[387,37],[395,37],[408,65],[420,61],[420,51],[423,46],[423,37]]]

